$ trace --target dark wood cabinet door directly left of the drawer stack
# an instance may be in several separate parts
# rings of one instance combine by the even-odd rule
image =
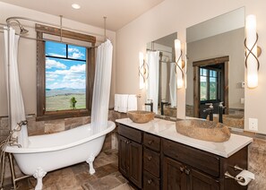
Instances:
[[[129,178],[142,188],[142,144],[129,141]]]

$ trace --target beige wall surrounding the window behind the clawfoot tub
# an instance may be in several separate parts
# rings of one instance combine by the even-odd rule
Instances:
[[[54,16],[47,13],[40,13],[30,9],[22,8],[12,4],[5,4],[0,2],[0,22],[5,23],[8,17],[20,16],[28,17],[42,22],[50,22],[59,25],[59,16]],[[21,21],[23,25],[30,27],[34,26],[34,22]],[[71,28],[74,30],[82,30],[96,36],[97,40],[103,40],[104,30],[83,24],[81,22],[73,22],[63,18],[63,27]],[[18,28],[18,27],[14,27]],[[30,30],[30,37],[36,38],[36,33],[33,28],[26,27]],[[110,107],[114,107],[114,94],[116,90],[116,32],[107,30],[107,37],[111,39],[114,45],[113,54],[113,68],[112,68],[112,82],[111,82],[111,98]],[[5,76],[4,76],[4,51],[3,51],[3,33],[0,33],[0,117],[7,116],[7,96],[5,89]],[[26,114],[36,114],[36,41],[30,39],[21,39],[19,45],[19,73],[21,80],[21,91],[24,99]]]

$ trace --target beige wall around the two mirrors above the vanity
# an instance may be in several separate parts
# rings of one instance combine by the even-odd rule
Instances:
[[[264,1],[231,1],[231,0],[165,0],[149,12],[142,14],[133,22],[116,32],[116,92],[142,93],[138,88],[138,52],[145,50],[146,44],[154,39],[167,36],[175,31],[178,38],[185,42],[185,29],[196,23],[209,20],[222,13],[227,13],[245,6],[245,15],[256,14],[259,45],[266,51],[266,17]],[[254,90],[245,89],[245,129],[247,119],[259,119],[259,131],[266,134],[266,55],[260,56],[261,68],[259,87]],[[244,63],[243,63],[244,66]],[[184,116],[184,89],[177,94],[177,115]],[[141,104],[144,102],[141,99]]]

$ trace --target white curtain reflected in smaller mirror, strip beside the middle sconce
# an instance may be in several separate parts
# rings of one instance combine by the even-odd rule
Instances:
[[[170,63],[170,80],[169,80],[169,90],[170,90],[170,103],[171,108],[176,107],[176,63]]]

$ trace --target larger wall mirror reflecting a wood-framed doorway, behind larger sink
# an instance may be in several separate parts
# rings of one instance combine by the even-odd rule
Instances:
[[[223,123],[244,129],[245,103],[245,7],[186,29],[187,87],[185,115],[219,119],[223,102]]]

